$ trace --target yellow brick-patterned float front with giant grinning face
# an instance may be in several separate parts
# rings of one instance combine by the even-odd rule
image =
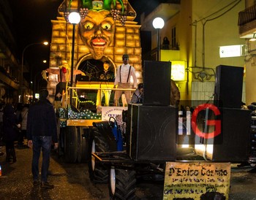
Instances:
[[[80,23],[76,26],[68,20],[72,11],[80,14]],[[122,64],[123,54],[129,55],[129,64],[135,67],[138,83],[142,82],[140,25],[134,21],[136,12],[128,1],[63,1],[58,12],[60,17],[52,20],[50,67],[47,69],[50,101],[56,107],[67,107],[69,95],[65,94],[70,86],[74,88],[72,104],[75,107],[90,103],[95,107],[104,105],[99,91],[113,89],[116,68]],[[113,75],[101,80],[105,62]],[[70,85],[72,70],[73,84]],[[111,98],[113,93],[109,106]]]

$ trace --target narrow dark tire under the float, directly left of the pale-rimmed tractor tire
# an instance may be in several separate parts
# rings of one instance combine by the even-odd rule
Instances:
[[[78,127],[78,163],[83,164],[89,158],[89,139],[83,136],[84,129],[84,127]]]

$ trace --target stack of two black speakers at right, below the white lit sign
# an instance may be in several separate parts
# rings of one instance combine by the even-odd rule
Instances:
[[[251,112],[241,109],[244,68],[220,65],[216,71],[214,104],[220,111],[221,134],[211,142],[210,157],[213,161],[246,161]]]

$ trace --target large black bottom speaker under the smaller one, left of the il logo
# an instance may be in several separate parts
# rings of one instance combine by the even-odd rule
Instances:
[[[135,161],[175,161],[178,110],[129,104],[127,153]]]

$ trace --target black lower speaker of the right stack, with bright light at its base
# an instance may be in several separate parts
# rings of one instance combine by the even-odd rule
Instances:
[[[249,156],[251,111],[220,108],[221,134],[214,139],[195,137],[195,151],[212,161],[241,162]],[[206,144],[206,145],[203,145]]]

